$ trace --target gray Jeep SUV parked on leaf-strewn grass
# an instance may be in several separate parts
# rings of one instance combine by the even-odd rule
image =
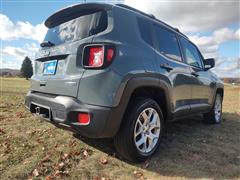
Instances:
[[[214,59],[178,29],[129,6],[87,3],[45,22],[31,113],[89,138],[113,138],[121,156],[154,153],[166,122],[202,113],[220,123],[224,94]]]

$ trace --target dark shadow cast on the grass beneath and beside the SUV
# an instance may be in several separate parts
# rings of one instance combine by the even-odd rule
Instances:
[[[209,125],[202,116],[166,125],[157,152],[145,163],[132,164],[161,176],[229,179],[240,176],[240,115],[224,113],[223,122]],[[115,154],[111,139],[94,140],[75,136],[107,154]]]

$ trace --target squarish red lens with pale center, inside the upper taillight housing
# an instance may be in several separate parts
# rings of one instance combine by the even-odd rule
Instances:
[[[101,67],[104,61],[103,47],[90,47],[88,65],[91,67]]]

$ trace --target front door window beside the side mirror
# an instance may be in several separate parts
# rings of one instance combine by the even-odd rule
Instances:
[[[202,68],[201,57],[197,48],[184,38],[180,38],[183,55],[187,64]]]

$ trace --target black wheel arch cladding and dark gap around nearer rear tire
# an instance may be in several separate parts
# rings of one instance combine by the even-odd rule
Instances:
[[[154,99],[161,107],[165,121],[171,118],[170,85],[155,77],[134,77],[122,92],[120,102],[109,115],[108,127],[116,134],[124,122],[124,114],[133,98],[140,95]],[[164,99],[164,100],[163,100]],[[111,119],[114,119],[112,122]]]

